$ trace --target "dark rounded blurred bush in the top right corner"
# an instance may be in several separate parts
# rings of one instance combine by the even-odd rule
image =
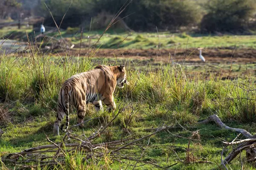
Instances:
[[[243,31],[255,10],[253,0],[211,0],[201,21],[202,31]]]

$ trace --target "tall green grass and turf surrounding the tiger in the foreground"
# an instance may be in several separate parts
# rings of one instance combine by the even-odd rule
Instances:
[[[146,36],[134,37],[131,41],[148,42]],[[180,37],[179,37],[180,38]],[[181,39],[181,38],[180,38]],[[116,39],[121,40],[121,39]],[[136,40],[136,41],[135,41]],[[177,40],[175,40],[176,42]],[[140,44],[138,43],[138,44]],[[102,60],[102,64],[108,64],[110,60]],[[111,62],[112,64],[112,62]],[[114,65],[120,65],[118,60]],[[88,71],[96,66],[94,59],[78,59],[76,57],[52,57],[36,52],[25,58],[14,58],[5,55],[0,56],[0,100],[1,108],[7,108],[11,119],[0,119],[1,129],[6,133],[0,138],[0,156],[4,153],[13,153],[29,147],[49,144],[46,136],[55,142],[61,137],[52,136],[53,122],[56,115],[56,101],[58,91],[62,82],[71,75]],[[113,65],[113,64],[112,64]],[[132,60],[126,61],[128,82],[123,89],[116,89],[114,94],[116,104],[133,102],[134,113],[128,129],[133,133],[134,139],[149,134],[143,129],[159,127],[160,125],[198,126],[201,142],[192,142],[192,152],[197,160],[208,160],[215,164],[183,164],[179,163],[172,167],[175,170],[211,169],[218,168],[220,164],[220,153],[223,148],[221,139],[232,141],[236,133],[222,130],[216,125],[197,125],[201,119],[209,115],[217,114],[227,125],[231,127],[244,128],[250,132],[256,130],[254,120],[256,118],[256,101],[247,99],[227,98],[250,98],[255,99],[255,92],[246,92],[239,86],[244,83],[251,88],[256,88],[254,79],[249,75],[238,77],[238,79],[221,80],[221,77],[210,75],[205,80],[204,74],[192,74],[190,66],[179,66],[171,64],[145,65],[137,67]],[[228,65],[222,67],[227,68]],[[252,66],[253,67],[253,66]],[[181,69],[182,68],[182,69]],[[244,68],[243,68],[244,69]],[[202,73],[207,68],[198,68]],[[243,86],[244,88],[247,88]],[[106,109],[106,108],[105,108]],[[122,130],[128,124],[128,115],[131,106],[123,111],[108,130]],[[70,111],[71,112],[71,111]],[[0,112],[1,113],[1,112]],[[113,114],[98,114],[89,105],[85,119],[100,116],[100,119],[111,119]],[[109,116],[109,117],[108,117]],[[76,122],[76,114],[71,113],[70,124]],[[177,121],[176,121],[177,120]],[[74,129],[74,133],[86,135],[99,128],[99,122],[93,121],[82,130]],[[171,133],[179,136],[189,137],[191,133],[184,130],[173,130]],[[63,133],[61,133],[63,135]],[[104,134],[102,141],[120,139],[121,132]],[[140,142],[147,144],[148,139]],[[172,136],[170,133],[161,132],[150,138],[151,145],[177,145],[187,147],[188,140]],[[231,150],[231,148],[229,148]],[[140,147],[122,151],[124,154],[140,154]],[[183,150],[175,150],[180,159],[185,159]],[[151,147],[145,150],[145,154],[161,166],[167,167],[177,160],[173,150],[169,147]],[[227,156],[228,152],[225,152]],[[245,153],[243,153],[245,156]],[[67,162],[76,158],[81,161],[82,156],[67,156]],[[167,161],[168,158],[168,161]],[[143,160],[148,157],[143,156]],[[77,165],[81,163],[77,162]],[[99,168],[104,161],[97,164],[81,165]],[[11,164],[6,164],[12,167]],[[69,169],[69,164],[65,165]],[[111,169],[126,167],[118,161],[113,161]],[[230,164],[233,169],[240,168],[239,159]],[[107,167],[104,167],[107,169]],[[250,169],[250,164],[244,164],[244,168]],[[137,169],[157,169],[152,165],[145,165]]]

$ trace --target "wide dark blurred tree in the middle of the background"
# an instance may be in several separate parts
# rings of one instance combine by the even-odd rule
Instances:
[[[93,11],[116,14],[126,0],[96,0]],[[191,0],[134,0],[120,15],[125,23],[136,31],[152,31],[197,24],[201,19],[194,1]],[[128,17],[126,17],[128,16]]]

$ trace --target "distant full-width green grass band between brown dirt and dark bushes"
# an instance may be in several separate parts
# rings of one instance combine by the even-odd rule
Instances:
[[[72,30],[72,31],[70,31]],[[81,33],[76,31],[78,29],[69,29],[67,31],[61,31],[63,38],[72,41],[74,44],[80,45]],[[28,32],[29,37],[34,37],[40,34],[39,32],[33,32],[31,29],[22,28],[17,31],[17,28],[4,28],[0,30],[0,36],[9,37],[12,35],[13,39],[26,40],[25,32]],[[87,38],[90,36],[90,44],[94,45],[99,39],[103,31],[84,31],[82,39],[83,44],[87,44]],[[53,32],[47,34],[48,36],[57,36],[60,38],[59,33]],[[149,49],[159,48],[159,42],[161,48],[256,48],[256,35],[198,35],[198,34],[186,34],[186,33],[169,33],[159,32],[156,33],[136,33],[132,32],[129,36],[128,32],[122,32],[119,30],[109,30],[100,39],[98,46],[101,48],[125,48],[125,49]],[[128,36],[128,37],[127,37]],[[127,37],[127,38],[125,38]],[[120,42],[122,42],[120,44]],[[119,45],[120,44],[120,45]],[[119,45],[119,46],[117,46]]]

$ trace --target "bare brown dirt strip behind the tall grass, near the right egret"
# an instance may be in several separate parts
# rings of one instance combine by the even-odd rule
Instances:
[[[78,55],[79,50],[70,51],[70,55]],[[63,51],[58,52],[64,55]],[[201,62],[197,48],[182,49],[81,49],[80,56],[93,57],[123,57],[125,59],[151,59],[163,62],[182,62],[185,58],[187,63]],[[247,48],[206,48],[202,50],[206,62],[211,63],[255,63],[256,49]]]

